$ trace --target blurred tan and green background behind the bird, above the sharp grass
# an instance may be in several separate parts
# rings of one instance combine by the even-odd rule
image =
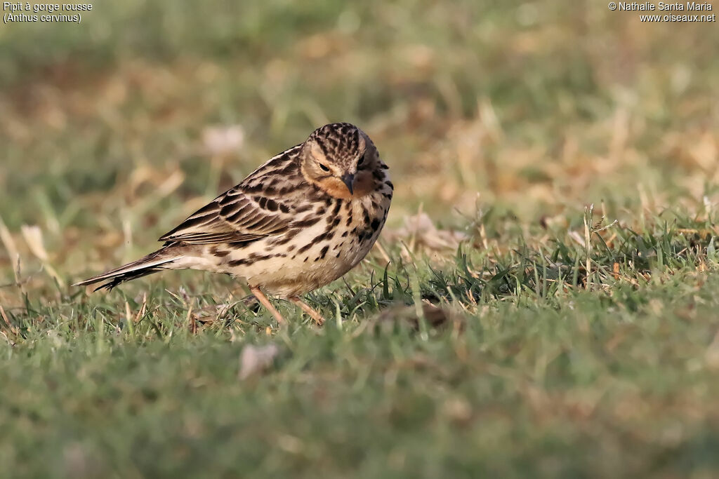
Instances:
[[[390,165],[389,232],[420,210],[443,228],[701,210],[716,32],[597,1],[127,0],[4,24],[0,283],[16,254],[61,284],[132,259],[330,121]]]

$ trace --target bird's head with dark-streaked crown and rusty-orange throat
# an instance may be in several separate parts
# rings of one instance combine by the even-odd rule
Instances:
[[[332,123],[312,132],[301,153],[309,182],[333,197],[362,195],[379,155],[364,131],[349,123]]]

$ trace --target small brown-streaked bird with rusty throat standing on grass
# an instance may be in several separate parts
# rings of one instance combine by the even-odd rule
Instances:
[[[321,325],[322,315],[301,297],[367,256],[392,202],[388,169],[364,131],[326,124],[160,236],[157,251],[73,286],[111,290],[172,269],[225,273],[244,278],[279,325],[285,318],[267,294]]]

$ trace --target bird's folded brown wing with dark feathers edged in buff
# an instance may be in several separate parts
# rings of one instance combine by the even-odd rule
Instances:
[[[296,208],[283,202],[273,180],[296,177],[297,147],[278,154],[249,175],[242,183],[197,210],[160,241],[192,244],[253,241],[285,231],[296,219]]]

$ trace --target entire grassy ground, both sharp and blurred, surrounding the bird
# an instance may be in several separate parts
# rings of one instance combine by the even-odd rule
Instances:
[[[717,475],[714,31],[560,1],[4,25],[2,475]],[[226,276],[68,286],[339,120],[396,190],[385,251],[308,295],[321,329]]]

